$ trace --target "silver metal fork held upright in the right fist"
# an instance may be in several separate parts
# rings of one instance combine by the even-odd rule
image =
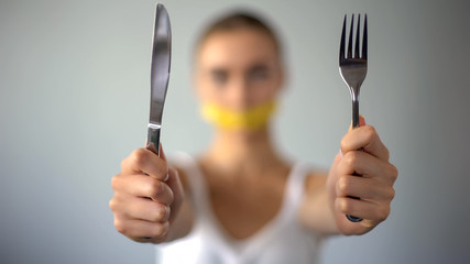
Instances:
[[[348,86],[352,99],[352,128],[359,127],[359,91],[361,89],[362,81],[365,79],[368,73],[368,15],[364,15],[364,29],[362,34],[362,53],[359,54],[360,45],[360,24],[361,24],[361,14],[358,15],[358,26],[356,30],[356,45],[354,54],[352,54],[352,37],[353,37],[353,25],[354,25],[354,14],[351,18],[351,28],[349,31],[349,43],[348,52],[345,56],[346,50],[346,14],[345,21],[342,23],[341,32],[341,43],[339,47],[339,73],[345,80],[345,84]],[[354,176],[360,176],[356,175]],[[359,197],[350,197],[354,199],[360,199]],[[360,222],[362,218],[346,216],[351,222]]]

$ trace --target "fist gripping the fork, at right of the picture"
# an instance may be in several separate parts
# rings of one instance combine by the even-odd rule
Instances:
[[[330,206],[343,234],[363,234],[384,221],[395,195],[397,170],[389,163],[389,150],[362,117],[360,123],[342,138],[327,179]],[[363,220],[353,223],[345,215]]]

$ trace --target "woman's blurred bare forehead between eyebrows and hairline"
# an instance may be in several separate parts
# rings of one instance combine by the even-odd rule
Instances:
[[[274,41],[264,32],[251,29],[221,31],[209,35],[200,45],[200,67],[243,68],[253,64],[274,64],[278,54]]]

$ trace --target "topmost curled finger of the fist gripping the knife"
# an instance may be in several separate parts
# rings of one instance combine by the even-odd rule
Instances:
[[[122,161],[121,170],[123,174],[147,174],[162,180],[168,174],[166,162],[143,147],[135,150]]]

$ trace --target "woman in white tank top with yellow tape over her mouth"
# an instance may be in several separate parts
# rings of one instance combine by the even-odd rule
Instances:
[[[385,220],[397,170],[363,118],[329,173],[275,151],[269,120],[283,79],[280,43],[265,23],[243,13],[214,23],[195,52],[214,141],[195,158],[177,156],[175,169],[164,152],[127,157],[112,179],[117,230],[139,242],[174,241],[161,248],[175,263],[313,263],[320,238],[363,234]]]

